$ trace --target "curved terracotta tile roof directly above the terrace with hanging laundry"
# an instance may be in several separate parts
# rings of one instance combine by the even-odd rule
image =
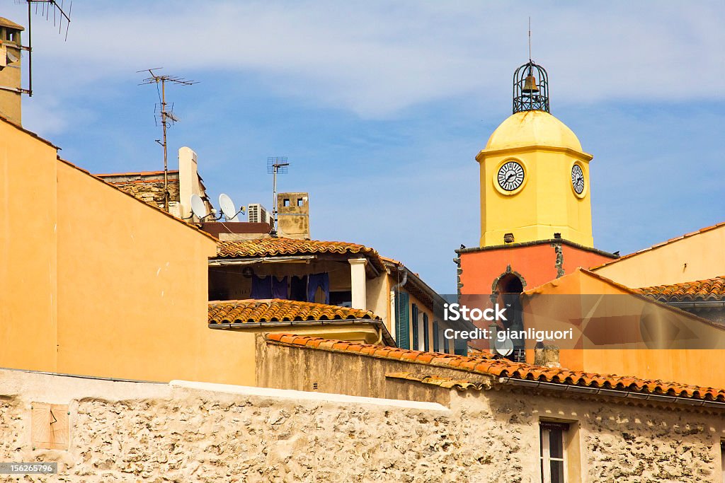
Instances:
[[[368,257],[376,269],[384,270],[378,252],[357,243],[294,238],[263,238],[261,240],[224,240],[217,248],[218,258],[244,258],[257,256],[292,256],[320,253],[360,254]]]

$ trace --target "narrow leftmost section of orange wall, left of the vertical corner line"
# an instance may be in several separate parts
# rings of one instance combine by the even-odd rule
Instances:
[[[0,119],[0,366],[54,370],[56,148]]]

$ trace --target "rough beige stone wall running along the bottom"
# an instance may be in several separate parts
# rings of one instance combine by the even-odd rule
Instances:
[[[24,482],[535,483],[537,422],[547,418],[579,421],[569,446],[581,457],[570,462],[570,483],[722,478],[721,413],[439,390],[450,407],[3,370],[0,461],[59,462],[56,476],[7,477]],[[33,448],[30,406],[38,402],[68,404],[67,450]]]

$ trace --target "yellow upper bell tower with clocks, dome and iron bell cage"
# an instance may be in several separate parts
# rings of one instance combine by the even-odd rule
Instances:
[[[549,79],[533,61],[513,74],[513,114],[476,156],[481,247],[562,238],[593,246],[589,161],[550,114]]]

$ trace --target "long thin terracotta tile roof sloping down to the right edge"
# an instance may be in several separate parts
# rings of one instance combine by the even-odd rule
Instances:
[[[622,377],[613,374],[593,374],[584,371],[535,366],[509,361],[508,359],[492,358],[492,356],[451,356],[450,354],[421,352],[399,348],[381,347],[349,343],[341,340],[305,337],[293,334],[270,334],[269,344],[289,347],[328,350],[330,352],[355,353],[360,356],[406,361],[413,364],[458,369],[478,374],[489,374],[496,377],[526,379],[531,381],[552,382],[555,384],[592,387],[597,389],[629,390],[655,395],[677,396],[695,400],[715,400],[725,402],[725,389],[700,387],[680,384],[679,382],[663,382],[637,377]]]

